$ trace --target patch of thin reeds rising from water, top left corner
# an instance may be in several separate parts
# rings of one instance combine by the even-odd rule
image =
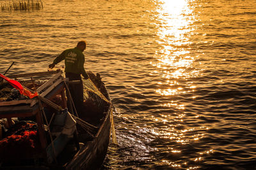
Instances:
[[[42,0],[21,0],[21,1],[8,1],[7,3],[1,3],[2,11],[30,11],[43,9]]]

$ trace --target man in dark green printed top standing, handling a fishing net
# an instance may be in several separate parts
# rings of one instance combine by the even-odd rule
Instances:
[[[55,64],[58,64],[65,59],[65,74],[69,81],[79,80],[77,85],[70,85],[70,93],[72,99],[76,105],[76,109],[81,113],[81,106],[83,105],[83,81],[81,79],[81,74],[84,79],[88,79],[88,75],[84,70],[84,54],[83,51],[86,49],[86,41],[79,41],[77,46],[72,49],[63,51],[49,68],[53,68]]]

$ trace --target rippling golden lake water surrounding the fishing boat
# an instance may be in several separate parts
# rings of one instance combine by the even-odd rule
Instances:
[[[46,71],[86,39],[115,104],[102,169],[256,168],[255,0],[43,3],[0,12],[0,71]]]

